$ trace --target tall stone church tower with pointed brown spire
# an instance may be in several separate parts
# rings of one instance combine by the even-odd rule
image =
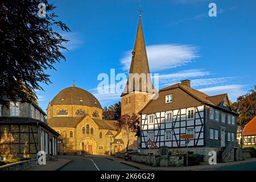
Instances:
[[[138,78],[138,75],[144,75],[144,77]],[[151,82],[140,15],[134,49],[132,51],[129,78],[121,94],[121,114],[138,114],[155,93],[156,90]]]

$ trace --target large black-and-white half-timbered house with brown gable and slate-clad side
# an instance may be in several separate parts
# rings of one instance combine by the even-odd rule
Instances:
[[[193,134],[188,146],[196,154],[208,156],[209,151],[216,151],[222,156],[237,147],[238,114],[232,111],[228,94],[208,96],[191,88],[190,82],[160,89],[158,98],[139,112],[144,153],[148,139],[172,152],[183,150],[185,139],[180,136],[185,134]]]

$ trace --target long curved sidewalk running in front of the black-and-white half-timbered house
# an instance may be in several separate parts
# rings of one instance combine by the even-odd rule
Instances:
[[[256,158],[249,158],[246,160],[241,160],[237,162],[230,162],[230,163],[218,163],[216,165],[210,165],[210,164],[202,164],[199,166],[182,166],[182,167],[152,167],[148,166],[146,164],[136,163],[132,161],[126,161],[119,158],[114,158],[113,156],[95,156],[95,157],[101,157],[101,158],[107,158],[110,160],[113,160],[115,162],[119,162],[122,164],[129,165],[131,167],[135,167],[137,169],[141,170],[160,170],[160,171],[199,171],[199,170],[206,170],[206,169],[214,169],[214,168],[220,168],[220,167],[226,167],[226,166],[233,166],[237,164],[245,164],[245,163],[251,163],[256,162]]]

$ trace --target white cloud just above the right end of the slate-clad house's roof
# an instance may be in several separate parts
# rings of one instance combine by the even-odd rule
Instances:
[[[245,93],[243,88],[246,85],[222,85],[222,86],[212,86],[208,88],[199,89],[200,92],[204,92],[209,96],[214,96],[217,94],[228,93],[229,99],[231,101],[236,101],[238,96]]]

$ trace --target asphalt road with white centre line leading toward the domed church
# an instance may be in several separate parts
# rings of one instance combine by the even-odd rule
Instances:
[[[106,158],[82,157],[82,156],[61,156],[60,159],[72,160],[60,171],[129,171],[138,170],[137,168],[127,166],[126,164],[114,162]]]

